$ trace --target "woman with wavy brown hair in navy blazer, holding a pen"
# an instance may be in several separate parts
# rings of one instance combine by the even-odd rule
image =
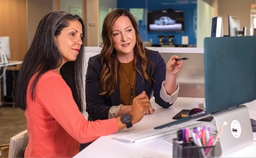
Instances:
[[[137,21],[128,10],[108,13],[101,38],[101,53],[88,61],[85,86],[88,120],[129,113],[133,98],[143,91],[149,98],[154,92],[155,102],[163,108],[174,103],[179,90],[176,76],[183,63],[172,56],[165,65],[159,52],[144,48]],[[154,111],[150,107],[146,114]]]

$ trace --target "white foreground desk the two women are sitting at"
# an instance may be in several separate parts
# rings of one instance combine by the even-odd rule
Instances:
[[[155,108],[155,113],[152,115],[145,115],[142,120],[133,125],[130,129],[123,129],[110,136],[102,136],[94,141],[87,148],[83,149],[74,158],[171,158],[172,145],[166,143],[172,142],[176,136],[165,136],[154,140],[148,140],[142,143],[132,144],[113,140],[113,136],[124,134],[125,132],[138,131],[159,126],[164,123],[174,121],[172,118],[175,114],[183,109],[192,109],[198,107],[198,104],[203,102],[203,98],[178,98],[169,109],[158,108],[160,106],[152,103]],[[256,101],[246,104],[250,109],[250,117],[256,119]],[[252,110],[254,109],[254,110]],[[255,135],[256,136],[256,135]],[[163,141],[165,140],[165,141]],[[254,150],[256,149],[256,142],[250,146],[243,148],[226,157],[256,157]]]

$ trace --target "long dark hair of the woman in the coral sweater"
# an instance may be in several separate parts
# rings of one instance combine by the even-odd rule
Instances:
[[[23,64],[18,73],[14,101],[22,110],[26,110],[27,88],[31,77],[38,73],[31,88],[31,97],[34,100],[38,79],[48,70],[54,70],[61,65],[62,54],[55,42],[55,36],[59,35],[64,27],[69,26],[69,21],[75,20],[82,24],[82,41],[84,41],[85,27],[82,18],[78,15],[64,11],[51,11],[39,22],[32,44],[24,57]],[[77,59],[66,62],[60,69],[60,73],[70,87],[74,101],[81,112],[83,112],[81,89],[83,87],[82,69],[84,68],[83,50],[84,44],[81,45]]]

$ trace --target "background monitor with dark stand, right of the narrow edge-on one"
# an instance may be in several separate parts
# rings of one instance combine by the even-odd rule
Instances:
[[[246,27],[240,29],[239,18],[229,15],[229,36],[246,36]]]

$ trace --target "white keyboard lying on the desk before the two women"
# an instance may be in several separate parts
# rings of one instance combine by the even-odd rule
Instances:
[[[167,136],[174,133],[177,133],[177,131],[181,128],[194,128],[197,127],[202,122],[194,121],[194,122],[187,122],[187,123],[180,123],[177,125],[173,125],[171,127],[165,127],[162,129],[146,129],[143,131],[138,131],[134,133],[129,133],[122,136],[114,137],[114,140],[120,140],[120,141],[126,141],[126,142],[132,142],[132,143],[139,143],[146,140],[151,140],[155,138],[159,138],[161,136]]]

